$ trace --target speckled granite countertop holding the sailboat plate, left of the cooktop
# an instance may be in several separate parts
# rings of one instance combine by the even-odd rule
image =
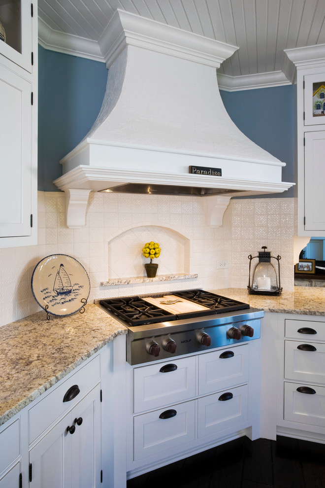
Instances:
[[[45,312],[0,327],[0,425],[128,329],[97,305],[46,319]]]

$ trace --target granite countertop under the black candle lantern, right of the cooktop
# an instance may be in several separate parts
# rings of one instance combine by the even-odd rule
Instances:
[[[213,291],[219,295],[249,303],[251,307],[263,309],[265,312],[325,316],[325,288],[295,286],[293,291],[283,291],[279,297],[249,295],[245,288],[222,288]]]

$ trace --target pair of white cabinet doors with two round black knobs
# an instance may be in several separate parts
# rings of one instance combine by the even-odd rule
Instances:
[[[99,395],[98,384],[31,449],[31,488],[99,486]]]

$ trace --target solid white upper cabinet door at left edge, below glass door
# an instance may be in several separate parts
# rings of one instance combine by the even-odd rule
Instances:
[[[0,238],[31,236],[32,85],[0,64]]]

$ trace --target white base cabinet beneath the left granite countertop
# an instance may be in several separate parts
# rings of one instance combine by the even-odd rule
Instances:
[[[0,488],[126,486],[125,336],[0,426]]]

